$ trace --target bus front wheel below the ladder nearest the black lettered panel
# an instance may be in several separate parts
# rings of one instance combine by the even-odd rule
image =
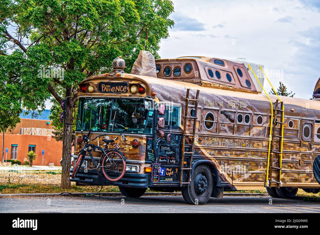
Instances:
[[[193,170],[190,185],[181,187],[181,193],[188,204],[205,204],[210,199],[212,188],[213,177],[210,168],[200,165]]]

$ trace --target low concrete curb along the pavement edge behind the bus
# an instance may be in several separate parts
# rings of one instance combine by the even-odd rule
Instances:
[[[96,192],[56,192],[56,193],[12,193],[12,194],[0,194],[1,196],[73,196],[73,195],[86,195],[95,194]],[[65,194],[65,195],[63,195]],[[101,192],[101,196],[122,196],[121,192]],[[146,192],[144,195],[181,195],[181,192]],[[242,192],[226,192],[223,196],[267,196],[267,193],[242,193]]]

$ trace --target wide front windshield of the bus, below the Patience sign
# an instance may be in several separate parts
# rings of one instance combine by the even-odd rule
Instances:
[[[143,100],[81,98],[78,124],[83,130],[152,134],[154,110]]]

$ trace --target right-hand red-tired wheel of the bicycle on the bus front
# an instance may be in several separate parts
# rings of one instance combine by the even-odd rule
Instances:
[[[110,151],[103,157],[102,167],[103,175],[108,180],[118,181],[125,173],[124,156],[120,152]]]

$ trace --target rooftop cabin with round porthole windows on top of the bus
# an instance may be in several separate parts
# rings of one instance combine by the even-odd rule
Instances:
[[[236,61],[204,56],[158,59],[156,73],[158,78],[191,82],[205,87],[261,93],[262,87],[247,67],[248,62],[245,59]],[[264,74],[259,64],[250,62],[250,65],[263,86]],[[263,65],[261,67],[263,69]]]

